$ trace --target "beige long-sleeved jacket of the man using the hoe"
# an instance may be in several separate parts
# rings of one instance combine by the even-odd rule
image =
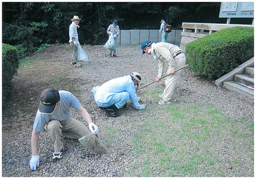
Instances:
[[[176,54],[182,51],[178,46],[171,43],[158,42],[154,45],[154,51],[158,57],[157,77],[162,77],[164,73],[164,62],[169,64],[171,71],[175,71],[176,64],[173,57],[176,57]]]

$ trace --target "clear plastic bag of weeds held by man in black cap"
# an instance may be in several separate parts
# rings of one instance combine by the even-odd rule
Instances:
[[[97,134],[88,133],[79,142],[86,148],[96,153],[107,153],[109,150],[104,146],[102,141],[98,138]]]

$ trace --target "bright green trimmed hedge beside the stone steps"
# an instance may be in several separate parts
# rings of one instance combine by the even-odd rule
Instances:
[[[254,28],[221,29],[188,43],[185,53],[195,75],[216,80],[254,56]]]

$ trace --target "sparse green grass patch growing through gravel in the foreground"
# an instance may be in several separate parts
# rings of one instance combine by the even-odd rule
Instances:
[[[156,101],[162,92],[156,89],[141,97],[149,95]],[[139,126],[144,130],[133,138],[134,151],[143,162],[131,176],[226,176],[227,170],[241,176],[236,170],[241,155],[253,163],[253,121],[245,125],[245,118],[231,119],[210,105],[185,107],[173,102],[145,110],[148,115]],[[162,115],[154,117],[155,110]]]

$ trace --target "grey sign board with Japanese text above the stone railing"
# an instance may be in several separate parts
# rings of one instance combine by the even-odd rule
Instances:
[[[222,2],[219,17],[254,18],[254,2]]]

